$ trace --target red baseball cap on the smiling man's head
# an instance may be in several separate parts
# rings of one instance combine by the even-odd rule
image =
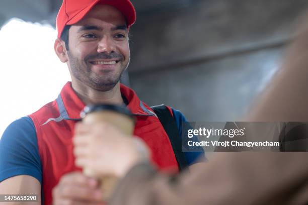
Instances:
[[[56,20],[58,38],[61,37],[65,25],[79,22],[98,3],[110,5],[119,10],[126,19],[127,28],[135,23],[136,11],[129,0],[63,0]]]

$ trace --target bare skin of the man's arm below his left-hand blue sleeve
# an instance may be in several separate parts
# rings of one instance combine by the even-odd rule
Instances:
[[[18,175],[8,178],[0,183],[0,194],[35,194],[36,202],[27,202],[27,204],[41,204],[41,183],[29,175]],[[21,202],[0,202],[0,204],[20,204]]]

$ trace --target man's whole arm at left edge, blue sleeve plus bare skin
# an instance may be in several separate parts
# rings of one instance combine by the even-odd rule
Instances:
[[[0,193],[38,194],[34,204],[40,204],[41,180],[36,131],[32,120],[24,117],[13,122],[0,140]]]

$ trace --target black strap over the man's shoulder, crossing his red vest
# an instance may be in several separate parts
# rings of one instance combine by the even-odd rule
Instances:
[[[179,164],[180,171],[188,167],[184,152],[182,152],[182,140],[179,134],[178,126],[172,117],[169,109],[165,105],[153,106],[151,109],[155,112],[161,121],[171,142],[173,152]]]

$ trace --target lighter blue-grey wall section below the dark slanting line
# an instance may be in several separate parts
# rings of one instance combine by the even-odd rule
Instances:
[[[130,75],[148,105],[172,106],[190,121],[233,121],[277,70],[280,49],[230,56],[178,69]]]

